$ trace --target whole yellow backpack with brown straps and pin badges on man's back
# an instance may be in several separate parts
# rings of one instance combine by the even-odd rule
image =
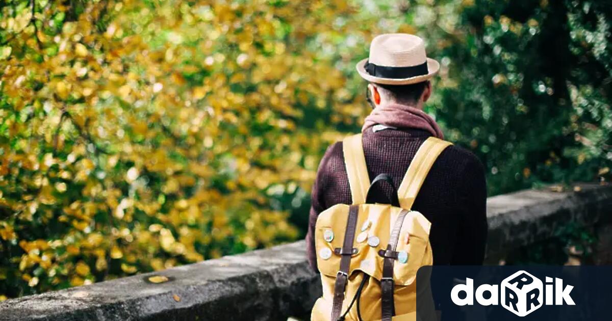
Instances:
[[[334,205],[316,221],[323,296],[313,307],[312,320],[416,320],[416,273],[432,265],[433,257],[431,223],[411,207],[431,165],[449,145],[428,138],[391,204],[370,204],[371,186],[383,180],[393,186],[393,181],[381,174],[370,185],[361,135],[344,139],[353,205]]]

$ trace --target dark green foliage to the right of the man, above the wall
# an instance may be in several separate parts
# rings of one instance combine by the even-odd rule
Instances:
[[[442,50],[436,114],[492,194],[610,177],[610,21],[601,1],[475,1]]]

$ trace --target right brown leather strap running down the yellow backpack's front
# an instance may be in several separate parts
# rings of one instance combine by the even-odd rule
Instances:
[[[395,220],[395,225],[391,231],[389,237],[389,244],[386,250],[381,250],[378,254],[384,257],[383,260],[383,278],[381,279],[381,292],[382,301],[381,306],[383,307],[383,317],[381,321],[391,321],[391,318],[395,315],[395,304],[393,300],[393,292],[395,287],[395,281],[393,281],[393,265],[395,259],[397,259],[397,241],[400,238],[401,224],[404,223],[404,218],[408,214],[408,210],[402,210],[400,215]]]

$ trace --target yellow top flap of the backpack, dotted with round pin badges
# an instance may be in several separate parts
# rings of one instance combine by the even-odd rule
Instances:
[[[340,266],[339,249],[345,236],[349,205],[337,204],[321,213],[316,221],[315,248],[319,271],[326,276],[335,277]],[[355,253],[351,257],[349,276],[353,271],[363,271],[381,280],[383,277],[383,257],[378,252],[389,243],[392,224],[399,216],[401,208],[387,204],[359,205],[357,231],[353,241]],[[397,252],[406,253],[406,260],[398,259],[394,265],[395,284],[408,286],[414,282],[416,272],[422,265],[432,263],[429,244],[430,222],[419,212],[409,212],[402,224]],[[406,238],[408,237],[408,243]],[[404,254],[401,254],[402,256]]]

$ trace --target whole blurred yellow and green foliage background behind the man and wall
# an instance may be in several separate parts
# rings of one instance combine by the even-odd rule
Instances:
[[[296,240],[384,32],[490,194],[610,180],[610,1],[0,0],[0,300]]]

